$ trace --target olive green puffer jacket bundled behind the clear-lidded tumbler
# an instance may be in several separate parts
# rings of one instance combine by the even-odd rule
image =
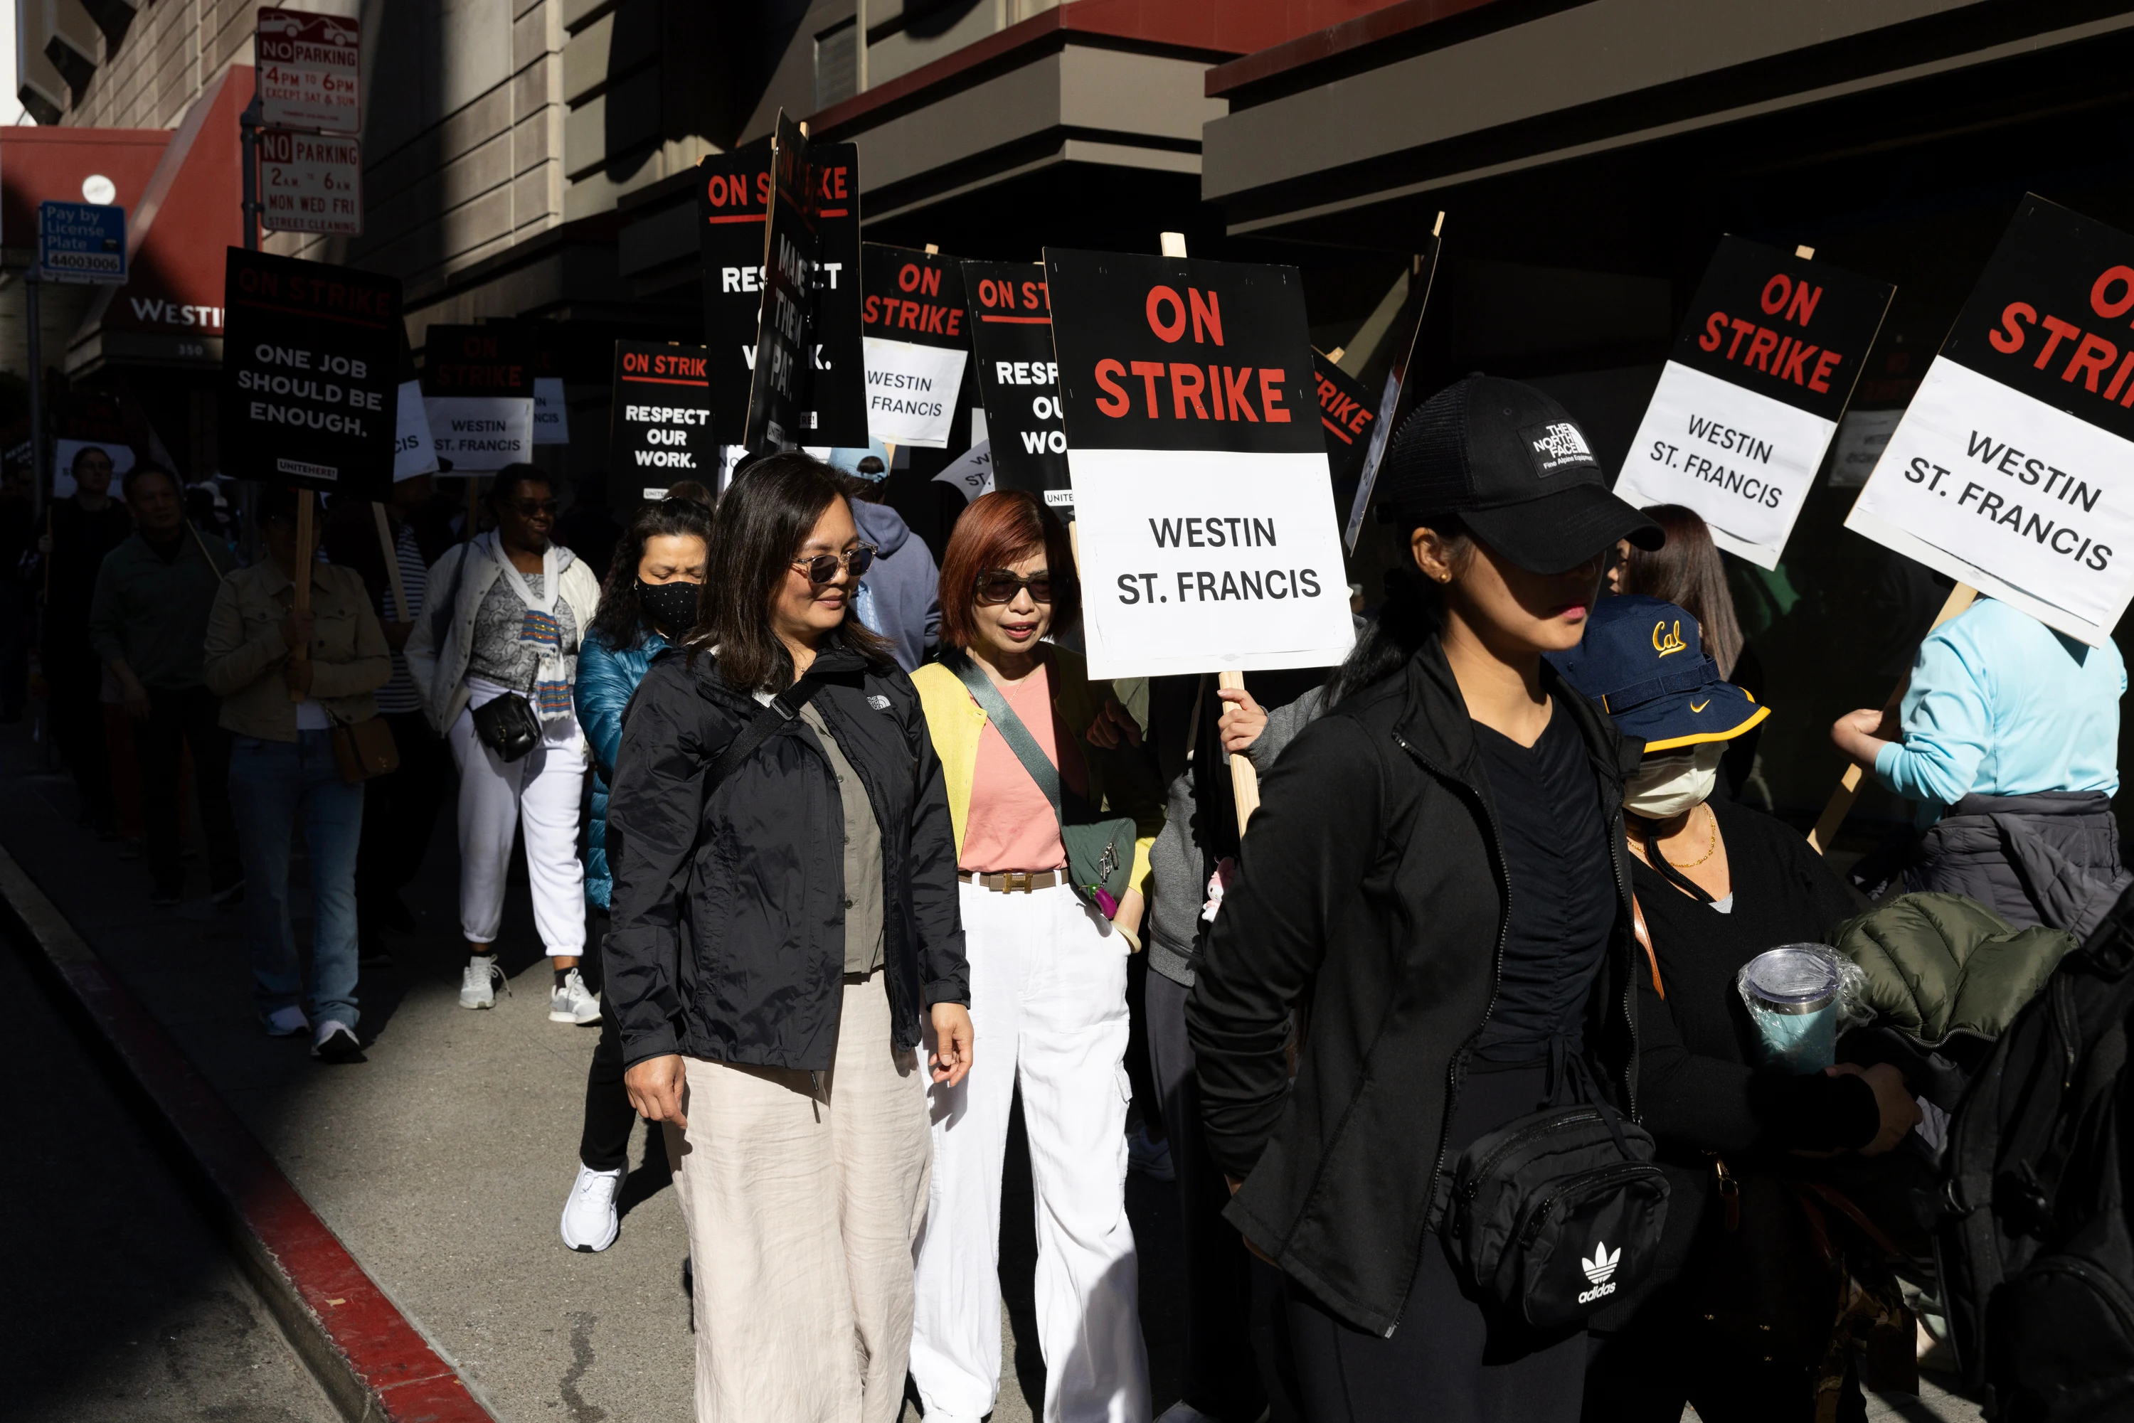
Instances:
[[[1959,1033],[1997,1039],[2072,947],[2072,934],[2014,928],[1961,894],[1899,894],[1837,930],[1876,1022],[1929,1050]]]

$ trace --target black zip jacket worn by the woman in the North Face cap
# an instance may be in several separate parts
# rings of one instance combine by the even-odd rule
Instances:
[[[1615,930],[1588,1054],[1637,1109],[1626,740],[1543,666],[1603,787]],[[1445,1133],[1496,1001],[1511,883],[1466,702],[1432,638],[1340,702],[1261,787],[1238,881],[1201,954],[1187,1028],[1227,1218],[1359,1329],[1389,1336],[1451,1188]],[[1289,1011],[1308,1003],[1295,1084]]]

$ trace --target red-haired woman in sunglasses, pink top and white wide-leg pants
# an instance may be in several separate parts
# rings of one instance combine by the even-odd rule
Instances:
[[[1112,687],[1046,642],[1078,612],[1058,516],[1026,491],[975,499],[941,561],[943,661],[911,676],[947,785],[971,1022],[986,1039],[969,1077],[933,1088],[911,1331],[926,1423],[975,1423],[999,1397],[1001,1161],[1018,1084],[1037,1195],[1044,1417],[1148,1419],[1127,1225],[1127,954],[1140,949],[1163,800],[1131,751],[1086,740]],[[1127,873],[1101,881],[1086,849],[1069,862],[1067,843],[1105,843],[1105,824]]]

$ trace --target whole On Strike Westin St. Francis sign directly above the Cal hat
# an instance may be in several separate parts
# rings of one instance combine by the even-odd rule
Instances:
[[[1720,548],[1778,567],[1895,290],[1720,239],[1615,493],[1688,506]]]

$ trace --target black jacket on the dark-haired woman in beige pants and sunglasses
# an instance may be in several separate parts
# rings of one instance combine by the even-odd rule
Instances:
[[[881,824],[883,971],[898,1048],[920,1009],[969,1003],[956,836],[911,678],[828,646],[811,706]],[[758,713],[715,659],[662,653],[623,713],[608,794],[606,1005],[623,1060],[668,1052],[826,1071],[845,975],[845,817],[822,740],[787,721],[706,798]]]

